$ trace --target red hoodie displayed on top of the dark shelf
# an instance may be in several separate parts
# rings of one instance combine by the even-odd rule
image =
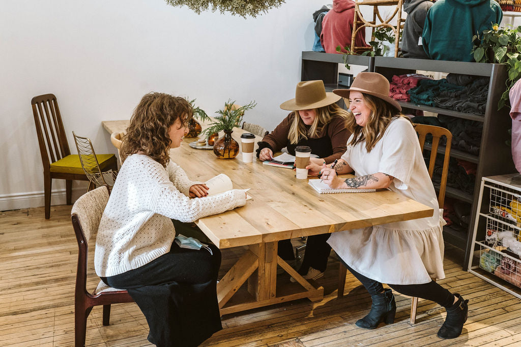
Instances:
[[[347,53],[345,47],[351,47],[354,15],[353,0],[333,0],[333,9],[324,16],[320,34],[320,43],[326,53],[337,53],[337,46],[342,47],[341,52]],[[355,46],[368,47],[365,42],[365,28],[356,33]]]

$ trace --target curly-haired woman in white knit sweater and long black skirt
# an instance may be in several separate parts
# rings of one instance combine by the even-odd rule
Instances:
[[[192,115],[190,102],[180,97],[150,93],[141,99],[96,237],[96,273],[129,291],[147,319],[148,340],[158,346],[197,345],[221,329],[219,249],[179,248],[171,219],[193,222],[246,200],[237,189],[207,197],[206,185],[190,181],[170,161],[170,148],[181,145]]]

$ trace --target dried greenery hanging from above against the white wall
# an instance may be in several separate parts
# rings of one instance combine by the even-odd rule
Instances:
[[[212,12],[219,10],[222,14],[230,12],[232,15],[257,17],[257,15],[266,13],[273,7],[279,7],[284,0],[165,0],[168,5],[180,7],[188,6],[196,14],[200,15],[201,11],[212,9]]]

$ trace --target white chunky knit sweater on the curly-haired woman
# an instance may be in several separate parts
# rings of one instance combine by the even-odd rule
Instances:
[[[119,170],[98,229],[96,274],[122,274],[169,252],[176,236],[170,219],[194,222],[246,202],[244,190],[238,189],[190,199],[189,189],[198,183],[172,161],[165,169],[148,156],[129,156]]]

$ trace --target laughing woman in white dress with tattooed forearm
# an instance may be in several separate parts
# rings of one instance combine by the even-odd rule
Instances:
[[[444,222],[412,123],[400,113],[398,102],[388,96],[389,82],[381,74],[359,73],[349,89],[333,92],[349,97],[348,129],[352,135],[334,170],[312,164],[311,173],[321,170],[324,182],[332,188],[389,188],[435,210],[432,217],[331,235],[328,243],[373,299],[369,314],[356,325],[374,329],[382,320],[394,322],[392,291],[382,287],[387,283],[402,294],[445,307],[447,315],[438,337],[460,336],[467,320],[468,300],[433,280],[445,277]],[[354,178],[337,176],[353,171]]]

